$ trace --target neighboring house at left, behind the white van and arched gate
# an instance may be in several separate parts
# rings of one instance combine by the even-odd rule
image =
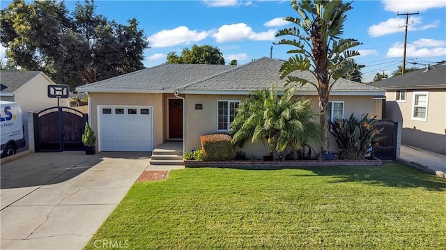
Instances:
[[[47,86],[55,83],[41,71],[1,70],[0,84],[0,100],[18,102],[22,108],[25,138],[28,138],[28,111],[57,106],[57,99],[47,95]],[[69,107],[68,100],[60,99],[59,105]]]

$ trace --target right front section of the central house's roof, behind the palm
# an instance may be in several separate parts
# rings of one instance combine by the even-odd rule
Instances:
[[[193,84],[182,86],[185,90],[203,91],[252,91],[253,89],[270,88],[271,84],[282,86],[286,79],[279,78],[279,71],[282,61],[272,58],[259,58],[245,65],[227,70],[213,77],[201,79]],[[310,72],[295,72],[301,78],[316,83],[316,78]],[[298,91],[316,91],[312,84],[305,84],[298,88]],[[374,86],[360,84],[347,79],[338,79],[332,87],[332,91],[343,92],[383,92],[383,89]]]

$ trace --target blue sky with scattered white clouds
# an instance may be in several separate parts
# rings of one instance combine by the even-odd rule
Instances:
[[[1,1],[1,8],[9,2]],[[95,5],[96,13],[118,23],[137,18],[151,46],[144,52],[146,67],[164,63],[169,52],[180,54],[194,44],[219,47],[226,63],[270,56],[277,31],[292,25],[282,18],[298,16],[289,1],[95,1]],[[66,6],[72,10],[75,1],[66,1]],[[366,65],[363,81],[383,70],[390,74],[402,63],[404,28],[399,26],[406,17],[397,12],[420,12],[409,17],[406,67],[446,60],[445,0],[354,1],[352,6],[343,38],[363,43],[355,47],[362,54],[355,60]],[[289,58],[288,49],[273,45],[272,57]]]

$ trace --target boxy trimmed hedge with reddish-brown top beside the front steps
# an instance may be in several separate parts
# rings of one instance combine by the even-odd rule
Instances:
[[[234,159],[236,157],[236,151],[231,140],[231,136],[227,134],[207,134],[200,136],[201,148],[203,148],[206,159],[211,161]]]

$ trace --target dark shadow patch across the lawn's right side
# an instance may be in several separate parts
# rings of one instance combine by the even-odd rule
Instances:
[[[307,168],[307,170],[316,174],[311,176],[333,176],[334,180],[331,181],[333,183],[364,182],[369,185],[384,185],[388,187],[424,187],[430,191],[446,190],[446,181],[442,178],[401,164],[311,167]]]

